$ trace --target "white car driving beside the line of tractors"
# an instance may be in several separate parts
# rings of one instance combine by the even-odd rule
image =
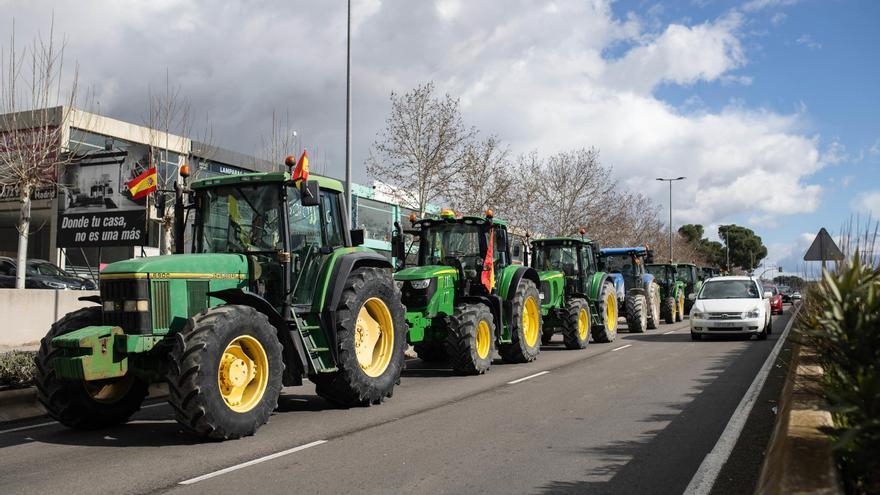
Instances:
[[[773,331],[770,291],[750,277],[717,277],[691,295],[691,339],[703,335],[757,335],[764,340]]]

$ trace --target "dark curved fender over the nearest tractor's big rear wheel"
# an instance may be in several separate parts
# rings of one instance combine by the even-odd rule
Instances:
[[[324,329],[327,336],[330,353],[333,355],[333,360],[338,362],[339,343],[336,338],[336,327],[339,321],[336,317],[336,310],[339,309],[339,304],[342,300],[342,291],[345,288],[345,281],[348,279],[351,272],[358,268],[387,268],[389,271],[393,270],[393,268],[391,262],[384,256],[365,248],[355,248],[354,250],[330,258],[330,261],[333,263],[333,267],[330,270],[329,275],[324,275],[325,277],[329,277],[326,284],[328,290],[324,296],[324,300],[320,301],[316,299],[315,303],[318,304],[318,307],[320,308],[318,314],[321,319],[321,328]],[[324,271],[322,270],[322,272]],[[324,277],[318,279],[318,285],[322,283],[323,279]]]

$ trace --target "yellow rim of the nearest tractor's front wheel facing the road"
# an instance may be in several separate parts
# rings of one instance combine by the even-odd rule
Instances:
[[[235,412],[253,409],[269,383],[269,357],[260,341],[250,335],[236,337],[226,346],[217,367],[217,384],[223,401]]]

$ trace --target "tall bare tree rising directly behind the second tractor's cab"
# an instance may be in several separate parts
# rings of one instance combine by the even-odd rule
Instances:
[[[448,94],[435,96],[433,83],[392,93],[391,115],[367,159],[367,172],[397,186],[403,205],[419,217],[460,173],[476,133],[465,127],[458,105]]]

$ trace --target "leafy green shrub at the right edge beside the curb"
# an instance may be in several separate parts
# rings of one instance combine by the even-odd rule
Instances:
[[[805,304],[799,332],[825,370],[845,489],[880,493],[880,269],[856,254],[824,273]]]

